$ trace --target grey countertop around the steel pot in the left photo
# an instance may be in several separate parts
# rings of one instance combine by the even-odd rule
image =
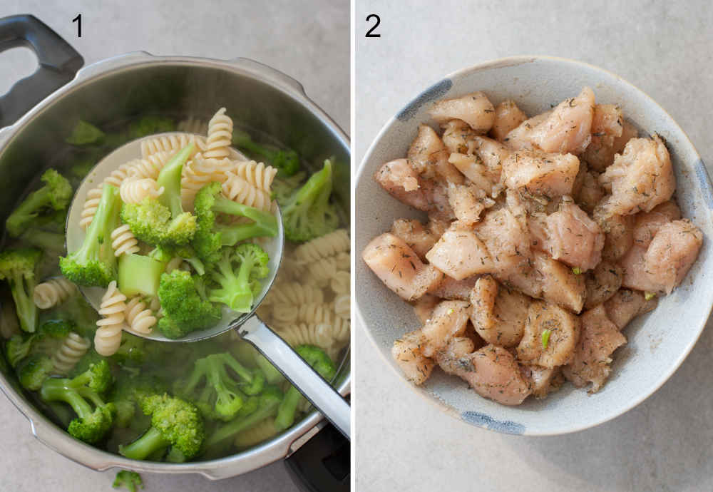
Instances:
[[[82,37],[72,19],[82,14]],[[284,71],[342,128],[349,129],[349,1],[5,0],[0,17],[34,14],[86,64],[129,51],[210,58],[245,56]],[[34,71],[26,48],[0,53],[0,94]],[[97,473],[46,448],[24,416],[0,395],[0,491],[111,490],[114,472]],[[280,462],[211,482],[201,476],[144,475],[160,491],[296,491]]]

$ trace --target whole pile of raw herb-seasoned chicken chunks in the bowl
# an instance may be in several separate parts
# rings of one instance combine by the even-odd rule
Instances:
[[[682,284],[702,232],[673,198],[665,141],[590,88],[529,118],[493,102],[434,103],[436,124],[374,175],[428,215],[362,252],[421,323],[392,355],[414,384],[438,367],[506,405],[565,379],[598,391],[622,330]]]

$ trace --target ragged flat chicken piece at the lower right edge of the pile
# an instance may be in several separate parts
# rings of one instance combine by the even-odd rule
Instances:
[[[626,343],[626,338],[607,317],[602,305],[586,311],[581,319],[574,358],[563,367],[563,374],[578,388],[591,383],[589,392],[596,393],[609,377],[612,353]]]

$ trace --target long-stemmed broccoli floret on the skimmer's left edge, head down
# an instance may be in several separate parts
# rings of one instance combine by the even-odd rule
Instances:
[[[111,232],[119,225],[120,205],[119,190],[105,183],[81,247],[59,258],[62,275],[76,285],[106,287],[116,280],[116,256],[111,247]]]

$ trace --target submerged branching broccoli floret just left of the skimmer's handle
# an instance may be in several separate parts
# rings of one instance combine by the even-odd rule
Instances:
[[[229,370],[230,369],[230,370]],[[188,379],[175,382],[175,393],[189,401],[208,419],[233,419],[247,400],[265,386],[259,369],[250,370],[230,354],[212,354],[198,359]]]

